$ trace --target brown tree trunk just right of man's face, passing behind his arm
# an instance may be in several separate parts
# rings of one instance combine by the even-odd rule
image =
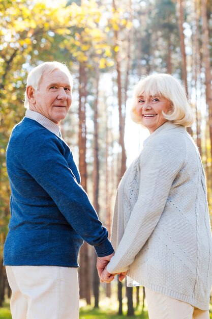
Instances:
[[[79,171],[81,175],[81,185],[87,190],[87,165],[86,165],[86,69],[85,64],[79,65]],[[79,268],[79,289],[80,298],[85,298],[90,304],[90,276],[89,274],[89,251],[88,244],[84,243],[80,249],[80,268]]]

